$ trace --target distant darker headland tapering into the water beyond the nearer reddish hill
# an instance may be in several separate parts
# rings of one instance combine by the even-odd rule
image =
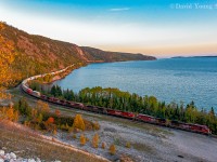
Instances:
[[[153,56],[120,52],[102,51],[94,48],[81,46],[89,62],[125,62],[125,60],[154,60]]]

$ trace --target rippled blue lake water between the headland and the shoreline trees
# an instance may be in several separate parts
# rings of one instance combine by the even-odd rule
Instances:
[[[75,92],[84,87],[118,87],[159,100],[217,110],[217,57],[91,64],[54,84]]]

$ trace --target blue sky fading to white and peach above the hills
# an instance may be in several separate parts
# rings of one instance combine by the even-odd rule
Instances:
[[[217,0],[0,0],[0,21],[105,51],[217,55]]]

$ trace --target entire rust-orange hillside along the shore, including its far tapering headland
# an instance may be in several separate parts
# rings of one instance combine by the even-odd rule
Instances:
[[[56,70],[72,64],[80,67],[92,62],[155,59],[155,57],[141,54],[80,48],[73,43],[29,35],[1,22],[0,52],[5,55],[13,54],[14,62],[11,71],[15,83],[28,76]]]

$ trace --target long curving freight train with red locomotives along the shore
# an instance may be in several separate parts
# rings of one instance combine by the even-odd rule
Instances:
[[[67,70],[67,68],[62,69],[60,71],[46,73],[46,75],[58,75],[60,72]],[[195,133],[201,133],[201,134],[206,134],[206,135],[212,134],[210,130],[206,125],[183,123],[183,122],[179,122],[179,121],[168,121],[166,119],[155,118],[155,117],[148,116],[148,114],[141,114],[141,113],[138,114],[138,113],[133,113],[133,112],[114,110],[114,109],[99,107],[99,106],[84,105],[82,103],[63,100],[63,99],[59,99],[55,97],[49,97],[49,96],[42,95],[42,94],[40,94],[40,92],[33,91],[31,89],[28,87],[28,81],[35,80],[40,77],[44,77],[46,75],[38,75],[38,76],[30,77],[30,78],[24,80],[21,85],[22,90],[25,93],[27,93],[28,95],[31,95],[36,98],[42,99],[44,102],[65,106],[68,109],[76,108],[76,109],[91,111],[91,112],[95,112],[95,113],[126,118],[126,119],[130,119],[130,120],[157,124],[157,125],[162,125],[162,126],[169,126],[169,127],[174,127],[174,129],[179,129],[179,130],[184,130],[184,131],[190,131],[190,132],[195,132]]]

